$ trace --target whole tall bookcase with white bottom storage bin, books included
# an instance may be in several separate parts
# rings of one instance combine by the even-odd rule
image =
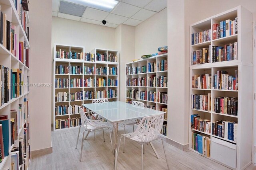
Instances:
[[[223,28],[218,32],[222,21],[233,26],[226,36],[221,35]],[[208,29],[210,39],[202,34],[193,43],[194,33]],[[252,160],[251,38],[252,14],[242,6],[190,25],[189,149],[237,170]]]

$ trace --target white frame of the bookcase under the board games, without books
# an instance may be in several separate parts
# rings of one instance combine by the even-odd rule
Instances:
[[[129,103],[132,103],[133,101],[139,101],[139,102],[143,102],[144,103],[144,106],[145,107],[148,107],[148,106],[155,106],[155,108],[157,110],[160,110],[160,106],[166,106],[167,108],[167,101],[166,102],[160,102],[158,101],[158,92],[166,92],[167,93],[167,74],[168,74],[168,71],[167,71],[167,66],[166,66],[166,69],[165,70],[158,70],[156,68],[156,70],[152,70],[151,72],[149,72],[148,70],[148,64],[149,63],[158,63],[158,62],[161,62],[162,60],[165,60],[167,61],[167,56],[168,54],[162,54],[162,55],[156,55],[156,56],[153,56],[153,57],[149,57],[147,59],[140,59],[140,60],[137,60],[137,61],[134,61],[134,62],[130,62],[130,63],[126,63],[126,68],[131,68],[132,70],[136,67],[139,68],[139,72],[131,72],[131,74],[127,73],[126,72],[126,102],[129,102]],[[142,72],[142,66],[146,66],[146,70],[145,72]],[[149,80],[148,78],[151,77],[151,76],[156,76],[156,80],[159,76],[166,76],[166,86],[164,87],[158,87],[157,84],[155,86],[150,86],[149,84]],[[138,78],[138,86],[136,86],[136,84],[132,84],[132,80],[133,78]],[[140,84],[139,82],[139,78],[146,78],[146,86],[144,86],[145,84]],[[127,81],[128,79],[131,80],[131,84],[127,84]],[[138,90],[138,96],[136,98],[133,97],[132,95],[131,96],[127,96],[127,91],[128,90]],[[155,91],[156,92],[156,100],[149,100],[148,98],[148,92],[149,91]],[[146,92],[146,100],[144,100],[141,95],[141,92]],[[167,126],[167,122],[168,122],[168,119],[164,119],[164,125]],[[167,131],[167,127],[166,127],[166,131]],[[167,132],[166,132],[167,134]],[[162,135],[160,134],[160,136],[162,137],[166,137],[165,135]]]

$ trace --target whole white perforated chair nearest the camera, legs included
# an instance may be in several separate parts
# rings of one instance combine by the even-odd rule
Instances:
[[[162,113],[161,115],[146,116],[142,118],[142,120],[140,121],[140,124],[138,125],[138,128],[134,132],[121,135],[120,143],[118,146],[118,152],[120,149],[122,137],[124,137],[124,139],[127,137],[129,139],[132,139],[140,143],[142,147],[141,164],[142,164],[142,170],[143,170],[143,153],[144,153],[143,145],[146,143],[155,141],[157,139],[160,139],[162,141],[162,145],[164,148],[164,155],[165,155],[167,167],[169,170],[164,141],[162,138],[158,137],[158,134],[162,129],[163,122],[164,122],[164,113]]]

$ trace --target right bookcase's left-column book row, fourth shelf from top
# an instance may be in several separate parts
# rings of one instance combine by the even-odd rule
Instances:
[[[211,111],[211,93],[208,93],[208,95],[192,94],[191,108]]]

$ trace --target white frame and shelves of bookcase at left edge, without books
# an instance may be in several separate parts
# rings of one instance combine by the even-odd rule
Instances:
[[[9,101],[4,103],[2,106],[0,106],[0,115],[8,115],[8,125],[9,125],[9,155],[4,156],[4,159],[2,159],[2,162],[0,163],[0,170],[7,170],[11,169],[11,150],[14,147],[19,146],[19,139],[24,139],[24,126],[28,127],[30,122],[30,112],[29,107],[27,109],[27,114],[25,115],[25,119],[22,119],[22,122],[20,122],[20,127],[18,126],[18,129],[15,129],[15,131],[18,131],[18,138],[14,141],[12,145],[11,144],[11,132],[10,132],[10,119],[11,119],[11,110],[17,111],[17,122],[21,118],[22,113],[25,113],[24,109],[24,99],[29,101],[29,87],[26,86],[29,83],[29,76],[30,76],[30,68],[28,67],[30,63],[28,62],[28,66],[26,65],[26,56],[24,56],[24,62],[19,60],[19,42],[26,43],[26,47],[24,49],[30,49],[30,43],[27,38],[27,31],[24,30],[24,27],[30,27],[30,21],[28,17],[29,12],[25,12],[24,15],[26,17],[26,22],[24,27],[22,25],[22,22],[20,21],[20,12],[17,12],[16,7],[14,6],[13,0],[0,0],[0,6],[1,11],[6,14],[6,20],[11,22],[11,25],[15,25],[16,27],[16,56],[11,53],[4,45],[0,44],[0,65],[4,67],[8,67],[9,73],[8,73],[8,79],[12,78],[10,70],[14,69],[20,69],[22,70],[22,78],[20,80],[20,83],[23,83],[23,86],[20,86],[21,88],[21,94],[16,96],[15,98],[11,99],[11,92],[9,89]],[[17,8],[20,10],[21,4],[19,2],[17,3]],[[6,27],[6,25],[4,25]],[[7,40],[6,40],[7,41]],[[10,81],[9,81],[10,82]],[[2,87],[2,86],[1,86]],[[19,114],[19,104],[21,104],[22,112]],[[30,103],[28,103],[30,105]],[[22,114],[23,115],[23,114]],[[3,130],[6,130],[3,128]],[[26,158],[23,157],[22,165],[19,166],[19,168],[27,169],[30,162],[30,141],[27,139],[26,141],[26,147],[24,147],[24,150],[22,153],[24,154],[24,151],[26,150]],[[3,150],[3,148],[2,148]],[[18,160],[19,161],[19,160]]]

